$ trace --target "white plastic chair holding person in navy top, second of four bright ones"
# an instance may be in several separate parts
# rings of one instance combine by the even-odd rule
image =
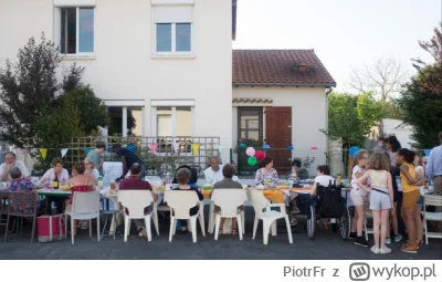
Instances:
[[[178,190],[167,190],[165,191],[165,202],[170,207],[170,232],[169,242],[172,241],[172,236],[177,231],[177,220],[185,219],[188,221],[188,227],[192,232],[193,243],[197,242],[197,218],[200,219],[201,233],[206,237],[204,231],[204,205],[198,198],[196,191],[178,191]],[[197,215],[190,216],[189,211],[194,206],[199,205],[199,210]]]

